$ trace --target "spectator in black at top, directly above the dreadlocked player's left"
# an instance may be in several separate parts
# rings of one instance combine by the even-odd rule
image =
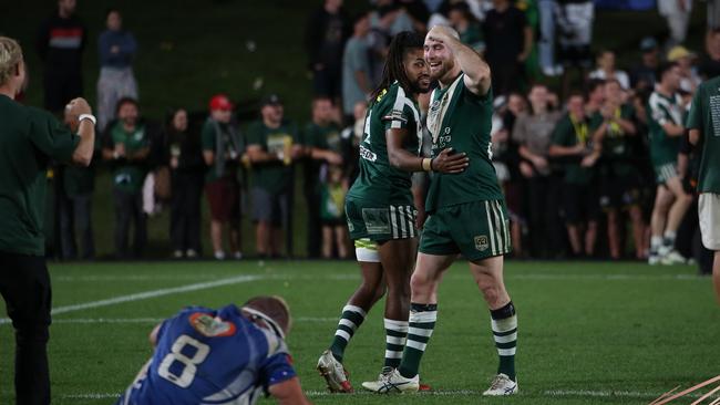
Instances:
[[[308,21],[305,46],[316,95],[340,100],[342,50],[352,31],[342,0],[325,0]]]

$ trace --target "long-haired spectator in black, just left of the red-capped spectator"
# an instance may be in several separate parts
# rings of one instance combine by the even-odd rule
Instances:
[[[200,196],[205,162],[200,136],[188,131],[187,112],[175,110],[167,123],[172,178],[171,243],[173,257],[197,258],[200,251]]]

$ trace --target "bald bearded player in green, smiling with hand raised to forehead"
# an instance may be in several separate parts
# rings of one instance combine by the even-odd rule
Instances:
[[[505,201],[490,153],[490,66],[446,27],[430,30],[424,50],[430,75],[440,82],[428,114],[432,154],[453,148],[467,154],[470,165],[460,174],[433,174],[430,179],[425,204],[429,217],[410,282],[410,324],[402,361],[391,374],[363,387],[380,393],[419,390],[420,360],[438,316],[438,287],[445,270],[462,255],[490,308],[500,355],[497,375],[484,394],[512,395],[517,393],[517,318],[503,282],[503,255],[510,252],[511,243]]]

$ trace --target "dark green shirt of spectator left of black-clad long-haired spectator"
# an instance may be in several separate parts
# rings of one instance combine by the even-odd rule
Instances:
[[[150,147],[150,136],[144,125],[138,125],[135,131],[127,132],[122,122],[117,122],[110,129],[110,148],[116,144],[125,145],[126,154],[135,154],[142,148]],[[143,181],[147,174],[147,166],[144,162],[121,162],[113,172],[113,184],[119,190],[137,194],[143,190]]]

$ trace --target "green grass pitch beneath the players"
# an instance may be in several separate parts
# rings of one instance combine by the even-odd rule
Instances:
[[[490,316],[462,263],[441,288],[438,328],[421,368],[434,392],[393,397],[328,395],[315,371],[358,284],[352,262],[54,264],[51,274],[54,404],[113,403],[151,355],[150,330],[182,307],[267,293],[286,297],[291,307],[296,368],[320,404],[641,404],[720,374],[720,312],[710,280],[690,267],[508,262],[521,395],[495,401],[480,397],[496,366]],[[11,403],[11,333],[0,324],[2,404]],[[347,352],[357,387],[379,372],[383,342],[377,308]]]

